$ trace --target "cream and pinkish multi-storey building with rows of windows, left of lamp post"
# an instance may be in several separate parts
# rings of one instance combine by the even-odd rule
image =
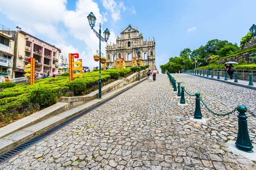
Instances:
[[[14,37],[13,78],[23,77],[30,57],[35,58],[35,72],[49,74],[58,72],[58,57],[61,50],[24,31],[10,31]]]

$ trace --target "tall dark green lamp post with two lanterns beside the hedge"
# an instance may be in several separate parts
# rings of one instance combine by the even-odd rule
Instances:
[[[93,27],[95,26],[95,22],[96,22],[96,17],[94,16],[94,14],[91,12],[88,15],[88,21],[89,21],[89,25],[90,27],[93,29]],[[99,38],[99,99],[101,99],[101,88],[102,88],[102,81],[101,81],[101,41],[103,42],[107,42],[108,38],[110,36],[110,32],[108,31],[108,28],[105,29],[105,31],[103,32],[104,38],[101,36],[101,25],[99,24],[99,33],[93,29],[93,32],[96,34],[96,36]]]

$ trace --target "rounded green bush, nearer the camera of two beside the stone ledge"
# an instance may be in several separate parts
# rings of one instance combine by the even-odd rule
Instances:
[[[42,106],[50,106],[57,102],[56,93],[49,87],[38,87],[31,91],[30,101]]]

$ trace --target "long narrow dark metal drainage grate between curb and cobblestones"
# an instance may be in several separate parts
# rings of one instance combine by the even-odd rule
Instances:
[[[141,81],[141,82],[143,82],[143,81]],[[141,82],[139,82],[138,84],[140,84]],[[0,163],[3,163],[4,161],[10,159],[12,156],[15,156],[17,153],[20,153],[21,151],[25,150],[26,148],[28,148],[28,147],[32,146],[33,144],[41,141],[42,139],[46,138],[47,136],[51,135],[52,133],[56,132],[57,130],[61,129],[62,127],[65,127],[66,125],[70,124],[71,122],[78,119],[79,117],[84,116],[85,114],[89,113],[90,111],[93,111],[94,109],[96,109],[99,106],[105,104],[106,102],[114,99],[115,97],[119,96],[120,94],[124,93],[125,91],[128,91],[130,88],[132,88],[134,86],[131,86],[131,87],[125,89],[121,93],[116,94],[115,96],[112,96],[111,98],[105,100],[104,102],[99,103],[99,104],[93,106],[92,108],[89,108],[88,110],[86,110],[82,113],[79,113],[78,115],[76,115],[74,117],[71,117],[70,119],[65,120],[64,122],[60,123],[59,125],[56,125],[55,127],[52,127],[51,129],[45,131],[44,133],[41,133],[40,135],[35,136],[32,139],[29,139],[27,142],[25,142],[23,144],[20,144],[19,146],[7,151],[6,153],[3,153],[2,155],[0,155]]]

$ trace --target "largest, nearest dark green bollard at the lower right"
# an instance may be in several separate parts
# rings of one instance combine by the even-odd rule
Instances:
[[[247,108],[243,105],[239,105],[237,108],[239,112],[238,117],[238,134],[236,139],[236,146],[246,152],[250,152],[253,149],[252,142],[250,141],[250,136],[247,127],[247,116],[245,112]]]

